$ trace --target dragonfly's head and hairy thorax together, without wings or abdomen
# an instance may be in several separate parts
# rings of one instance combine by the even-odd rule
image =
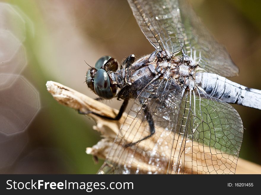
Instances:
[[[189,58],[172,56],[167,50],[155,51],[135,62],[134,57],[128,56],[120,67],[114,58],[101,57],[86,74],[87,86],[103,99],[135,98],[155,79],[174,79],[183,88],[194,87],[195,66]]]

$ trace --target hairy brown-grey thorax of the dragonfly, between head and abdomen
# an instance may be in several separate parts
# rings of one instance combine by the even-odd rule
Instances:
[[[120,88],[118,98],[135,98],[153,80],[175,80],[183,88],[194,88],[194,69],[188,58],[171,56],[167,51],[155,51],[135,61],[129,66],[112,73]]]

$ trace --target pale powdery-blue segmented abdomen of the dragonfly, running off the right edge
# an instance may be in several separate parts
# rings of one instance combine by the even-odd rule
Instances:
[[[248,88],[218,74],[207,72],[197,73],[196,83],[198,83],[206,93],[224,102],[261,110],[261,90]]]

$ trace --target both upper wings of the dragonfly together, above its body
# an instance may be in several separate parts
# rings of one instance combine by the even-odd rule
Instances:
[[[141,31],[156,50],[182,49],[207,72],[238,75],[224,46],[217,43],[186,0],[128,0]]]

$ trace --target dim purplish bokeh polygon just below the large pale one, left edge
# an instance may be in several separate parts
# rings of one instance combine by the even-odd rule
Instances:
[[[2,139],[5,137],[5,139]],[[0,134],[0,169],[11,166],[28,143],[26,132],[15,134],[13,136],[4,136]]]

